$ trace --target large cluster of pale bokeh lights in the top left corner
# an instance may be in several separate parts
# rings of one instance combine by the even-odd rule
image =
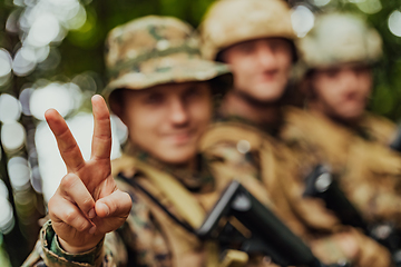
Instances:
[[[20,33],[22,44],[12,61],[13,72],[28,76],[41,62],[40,69],[55,69],[60,57],[50,46],[60,43],[69,30],[78,30],[85,24],[84,6],[78,0],[14,0],[14,4],[23,9],[11,12],[6,22],[7,31]],[[0,68],[0,86],[2,70]]]

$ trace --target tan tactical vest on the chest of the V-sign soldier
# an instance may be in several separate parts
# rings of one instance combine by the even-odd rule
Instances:
[[[114,175],[119,172],[126,172],[129,174],[129,176],[135,172],[139,174],[131,179],[135,179],[135,182],[145,190],[135,189],[128,186],[127,182],[121,181],[118,182],[118,186],[123,190],[131,191],[146,202],[146,206],[169,245],[168,249],[172,254],[172,266],[272,266],[262,258],[248,258],[246,254],[244,256],[244,253],[239,251],[232,251],[228,260],[225,260],[227,258],[223,260],[219,259],[218,256],[221,251],[218,250],[217,244],[213,241],[200,241],[194,233],[188,231],[185,227],[177,224],[177,221],[166,212],[167,209],[176,219],[188,222],[193,228],[199,227],[207,211],[213,208],[223,189],[233,179],[234,175],[233,171],[227,170],[227,168],[221,166],[218,162],[212,166],[212,170],[213,175],[218,177],[216,189],[207,194],[194,194],[186,190],[173,176],[159,171],[127,155],[113,162]],[[248,186],[257,188],[262,201],[267,201],[261,185],[255,185],[251,181]]]

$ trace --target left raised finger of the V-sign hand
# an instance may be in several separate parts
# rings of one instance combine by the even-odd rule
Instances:
[[[56,137],[57,145],[61,158],[67,166],[67,170],[76,172],[81,166],[84,166],[85,160],[76,139],[67,126],[66,120],[55,109],[47,110],[45,112],[45,118]]]

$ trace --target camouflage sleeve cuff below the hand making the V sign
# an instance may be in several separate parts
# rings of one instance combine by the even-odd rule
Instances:
[[[109,234],[108,234],[109,235]],[[107,236],[108,236],[107,235]],[[69,254],[58,243],[57,235],[51,221],[45,224],[40,231],[39,240],[31,255],[22,264],[22,267],[113,267],[118,260],[108,249],[110,237],[101,240],[95,248],[81,254]]]

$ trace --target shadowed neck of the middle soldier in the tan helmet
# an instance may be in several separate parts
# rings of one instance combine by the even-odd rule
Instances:
[[[226,95],[221,111],[225,117],[241,117],[267,128],[275,128],[282,120],[282,110],[277,102],[262,102],[235,90]]]

